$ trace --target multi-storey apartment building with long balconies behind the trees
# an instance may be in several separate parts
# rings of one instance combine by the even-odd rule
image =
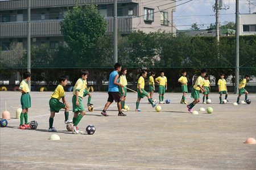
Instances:
[[[79,0],[80,5],[94,4],[108,22],[106,33],[113,32],[114,0]],[[118,0],[118,31],[155,32],[162,29],[176,32],[172,25],[175,1]],[[46,44],[55,49],[64,44],[60,22],[75,0],[31,0],[31,45]],[[0,47],[2,56],[10,51],[12,42],[27,48],[27,0],[0,1]],[[7,58],[6,58],[7,59]]]

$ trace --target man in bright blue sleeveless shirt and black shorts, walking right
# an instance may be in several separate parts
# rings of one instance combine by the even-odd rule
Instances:
[[[118,108],[118,116],[126,116],[126,114],[124,114],[121,111],[121,95],[119,94],[119,87],[123,87],[123,84],[118,83],[118,78],[119,78],[119,72],[122,69],[122,65],[120,63],[115,63],[114,65],[114,71],[112,71],[112,73],[110,73],[109,75],[109,90],[108,90],[108,101],[105,104],[104,109],[102,110],[101,114],[103,116],[109,116],[106,113],[106,110],[109,108],[110,104],[113,103],[113,101],[115,100],[115,102],[117,103],[117,108]]]

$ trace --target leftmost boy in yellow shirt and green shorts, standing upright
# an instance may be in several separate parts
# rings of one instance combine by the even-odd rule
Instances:
[[[28,108],[31,107],[31,97],[30,97],[30,88],[28,87],[28,80],[31,77],[31,73],[29,71],[25,71],[23,73],[23,80],[19,84],[19,91],[22,92],[22,95],[20,97],[20,103],[22,105],[22,112],[20,113],[20,124],[19,129],[26,129],[30,128],[30,125],[28,124]],[[24,124],[25,120],[25,124]]]

